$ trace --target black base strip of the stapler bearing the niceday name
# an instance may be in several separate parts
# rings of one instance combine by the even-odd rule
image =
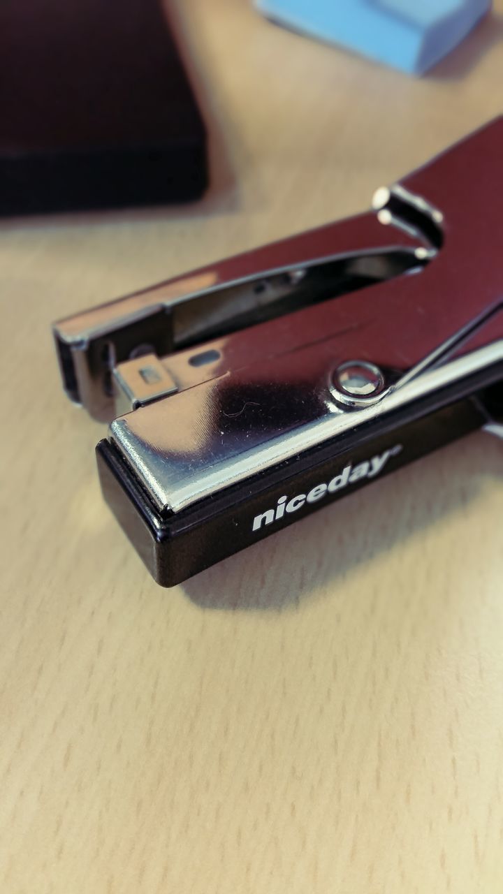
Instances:
[[[162,514],[113,443],[98,443],[98,469],[105,499],[125,533],[161,586],[174,586],[246,546],[354,493],[370,482],[362,478],[319,502],[284,514],[253,530],[256,516],[274,509],[283,495],[307,494],[374,455],[391,451],[379,477],[417,460],[487,421],[487,405],[500,405],[503,368],[491,367],[463,383],[359,426],[274,468],[227,487],[180,512]],[[489,389],[489,390],[488,390]],[[393,449],[400,446],[399,452]]]

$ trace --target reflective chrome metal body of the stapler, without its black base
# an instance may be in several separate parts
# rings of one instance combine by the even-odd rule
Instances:
[[[500,118],[379,190],[377,215],[63,321],[67,392],[110,418],[114,368],[139,350],[160,358],[178,392],[116,419],[110,437],[158,507],[179,511],[466,376],[500,381],[502,158]],[[382,223],[396,225],[393,245]],[[354,358],[386,385],[353,397],[358,412],[330,390]]]

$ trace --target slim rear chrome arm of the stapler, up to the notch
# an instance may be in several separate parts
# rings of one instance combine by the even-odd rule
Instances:
[[[376,192],[373,207],[375,217],[332,223],[60,320],[54,334],[68,396],[109,420],[114,368],[139,346],[163,357],[431,262],[443,241],[443,216],[429,201],[395,184]],[[392,244],[380,223],[396,227]],[[294,260],[281,263],[295,246]]]

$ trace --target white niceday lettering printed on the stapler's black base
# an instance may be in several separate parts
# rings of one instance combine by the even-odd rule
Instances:
[[[389,450],[384,451],[384,453],[381,453],[378,456],[373,456],[371,460],[360,462],[357,466],[352,466],[351,464],[345,466],[339,475],[336,475],[328,481],[328,484],[315,485],[314,487],[311,487],[309,493],[297,493],[291,500],[288,499],[287,494],[286,496],[279,497],[276,509],[268,509],[265,512],[261,512],[260,515],[255,516],[253,519],[252,530],[259,531],[262,524],[270,525],[273,521],[282,519],[286,512],[296,512],[297,510],[302,509],[306,502],[318,502],[319,500],[322,500],[323,497],[327,496],[328,493],[337,493],[337,491],[342,490],[344,487],[347,487],[347,485],[354,485],[356,481],[360,481],[362,478],[375,478],[386,466],[389,458],[391,456],[396,456],[402,449],[402,444],[396,444],[395,447],[390,447]]]

